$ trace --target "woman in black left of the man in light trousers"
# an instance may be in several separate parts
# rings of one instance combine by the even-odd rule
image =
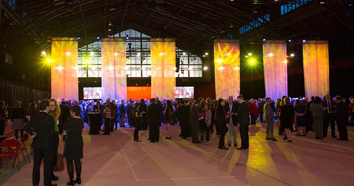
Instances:
[[[216,106],[216,121],[217,124],[219,125],[219,149],[222,150],[228,150],[228,148],[225,147],[225,134],[228,131],[229,124],[227,123],[227,118],[229,116],[226,115],[225,112],[225,100],[219,98],[218,104]]]

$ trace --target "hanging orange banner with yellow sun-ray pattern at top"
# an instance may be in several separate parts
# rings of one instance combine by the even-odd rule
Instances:
[[[214,40],[216,99],[240,95],[239,40]]]

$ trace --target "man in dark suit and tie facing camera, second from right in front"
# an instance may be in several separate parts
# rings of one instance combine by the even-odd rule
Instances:
[[[323,117],[323,137],[327,136],[329,123],[331,125],[331,136],[332,138],[337,138],[336,136],[336,128],[335,128],[335,108],[336,102],[331,100],[331,96],[326,94],[325,99],[322,101],[322,106],[325,109],[325,115]]]

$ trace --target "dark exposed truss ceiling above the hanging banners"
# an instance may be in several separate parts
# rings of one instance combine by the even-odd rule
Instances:
[[[308,2],[283,15],[280,6],[291,0],[16,0],[12,14],[7,1],[1,0],[1,47],[21,45],[22,40],[45,47],[51,36],[90,40],[131,28],[176,38],[177,47],[196,54],[211,50],[213,39],[230,37],[245,43],[329,40],[330,57],[354,53],[351,0],[292,0]],[[269,21],[260,19],[265,14]],[[259,27],[251,24],[255,20]],[[252,30],[240,35],[245,25]]]

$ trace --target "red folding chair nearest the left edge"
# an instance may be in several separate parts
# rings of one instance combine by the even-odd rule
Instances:
[[[11,150],[11,148],[13,147],[17,147],[14,150]],[[18,165],[18,171],[21,170],[20,168],[20,159],[19,159],[19,153],[18,153],[18,149],[19,149],[19,142],[17,139],[8,139],[8,140],[4,140],[0,143],[0,148],[4,148],[7,149],[4,152],[0,152],[0,174],[1,174],[1,167],[15,167],[15,162],[17,159],[17,165]],[[4,158],[9,158],[13,159],[13,162],[10,163],[9,161],[6,163],[2,163],[2,160]]]

